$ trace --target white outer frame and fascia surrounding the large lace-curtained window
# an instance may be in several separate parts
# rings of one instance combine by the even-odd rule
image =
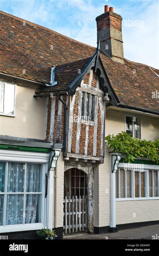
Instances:
[[[45,198],[45,173],[48,171],[48,159],[49,154],[47,153],[36,153],[36,152],[21,152],[21,151],[8,151],[8,150],[0,150],[1,161],[2,162],[22,162],[22,163],[37,163],[41,164],[42,170],[42,201],[41,201],[41,222],[40,223],[30,223],[30,224],[15,224],[15,225],[2,225],[0,226],[0,233],[3,232],[14,232],[14,231],[25,231],[25,230],[38,230],[41,227],[49,228],[51,226],[50,220],[52,219],[52,212],[47,211],[51,207],[51,197],[53,193]],[[7,164],[5,166],[7,168]],[[6,177],[5,172],[5,177]],[[7,182],[5,180],[5,182]],[[48,184],[49,185],[49,184]],[[50,185],[49,185],[50,186]],[[1,194],[5,194],[1,193]],[[5,209],[5,205],[4,205]],[[5,210],[3,211],[3,216],[5,214]],[[49,224],[50,222],[50,224]]]

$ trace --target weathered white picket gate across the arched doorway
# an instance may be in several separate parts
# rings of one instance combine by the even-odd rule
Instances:
[[[64,203],[64,226],[63,229],[65,230],[65,233],[68,232],[78,232],[78,231],[84,231],[84,227],[87,228],[87,196],[84,198],[84,196],[80,196],[80,198],[77,198],[77,196],[74,198],[72,196],[72,199],[70,196],[67,199],[67,196],[65,196],[65,199],[63,200]],[[74,218],[75,217],[75,218]]]

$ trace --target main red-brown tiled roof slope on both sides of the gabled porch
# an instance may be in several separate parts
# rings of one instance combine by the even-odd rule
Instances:
[[[51,50],[52,49],[52,50]],[[96,49],[53,30],[0,11],[0,72],[50,82],[51,66],[74,62],[94,55]],[[100,53],[103,65],[121,103],[159,111],[158,70],[125,60],[112,61]],[[3,61],[2,61],[3,60]],[[25,69],[25,74],[23,74]]]

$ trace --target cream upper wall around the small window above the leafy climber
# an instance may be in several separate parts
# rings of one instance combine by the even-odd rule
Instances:
[[[132,114],[131,111],[126,115],[134,115],[141,117],[141,135],[142,139],[154,140],[159,139],[159,119],[149,116]],[[105,120],[105,135],[114,134],[125,131],[125,114],[122,111],[107,109]]]

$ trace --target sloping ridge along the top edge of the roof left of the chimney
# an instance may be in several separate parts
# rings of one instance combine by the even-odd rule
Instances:
[[[83,42],[77,41],[77,40],[72,39],[72,38],[70,38],[70,37],[68,37],[68,36],[62,35],[62,34],[60,34],[59,32],[56,32],[55,30],[52,30],[52,29],[50,29],[50,28],[46,28],[46,27],[41,26],[41,25],[39,25],[39,24],[36,24],[36,23],[34,23],[34,22],[31,22],[31,21],[28,21],[28,20],[25,20],[25,19],[22,19],[22,18],[16,17],[16,16],[14,16],[14,15],[12,15],[12,14],[10,14],[10,13],[7,13],[7,12],[1,11],[1,10],[0,10],[0,13],[2,13],[2,14],[4,14],[4,15],[6,15],[6,16],[8,16],[8,17],[11,17],[11,18],[13,18],[13,19],[15,19],[15,20],[25,21],[25,22],[27,22],[27,23],[28,23],[28,24],[30,24],[30,25],[34,25],[35,27],[40,27],[40,28],[43,28],[43,29],[49,30],[49,31],[51,31],[51,32],[54,32],[54,33],[56,33],[56,34],[58,34],[58,35],[62,36],[62,37],[68,38],[69,40],[72,40],[73,42],[77,42],[77,43],[80,43],[80,44],[83,44],[83,45],[89,46],[89,47],[91,47],[91,48],[93,48],[93,49],[96,49],[96,47],[94,47],[94,46],[91,46],[91,45],[89,45],[89,44],[86,44],[86,43],[83,43]]]

